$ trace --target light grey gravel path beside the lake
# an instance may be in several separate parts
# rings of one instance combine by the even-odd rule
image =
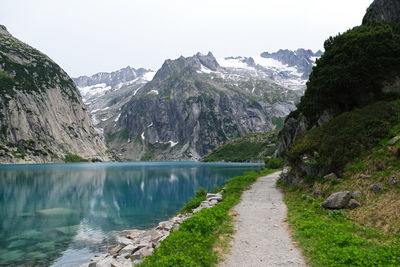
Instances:
[[[280,172],[260,177],[234,208],[231,255],[220,266],[306,266],[286,227],[286,205],[275,183]]]

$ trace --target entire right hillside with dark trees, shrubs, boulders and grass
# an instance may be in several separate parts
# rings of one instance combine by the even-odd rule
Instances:
[[[396,8],[376,0],[361,26],[325,41],[279,134],[288,221],[312,266],[400,264]]]

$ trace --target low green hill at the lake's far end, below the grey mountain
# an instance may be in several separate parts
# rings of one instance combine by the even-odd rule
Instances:
[[[248,162],[261,160],[265,161],[271,156],[278,142],[278,133],[270,131],[265,133],[252,133],[244,137],[230,141],[220,146],[204,158],[204,162]]]

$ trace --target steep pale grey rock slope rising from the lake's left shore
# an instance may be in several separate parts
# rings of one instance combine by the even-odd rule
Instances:
[[[0,162],[107,160],[73,81],[0,27]]]

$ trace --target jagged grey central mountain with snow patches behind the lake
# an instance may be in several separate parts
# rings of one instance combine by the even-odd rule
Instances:
[[[309,64],[302,70],[310,72],[319,52],[303,54]],[[216,59],[198,53],[166,60],[150,82],[126,87],[125,102],[105,101],[118,89],[95,98],[108,104],[87,105],[93,115],[105,111],[94,122],[122,160],[198,160],[232,138],[283,123],[306,83],[293,62],[268,54]]]

